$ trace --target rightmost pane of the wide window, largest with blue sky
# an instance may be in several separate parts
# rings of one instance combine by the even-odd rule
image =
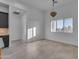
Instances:
[[[64,32],[72,33],[73,32],[73,21],[72,18],[64,19]]]

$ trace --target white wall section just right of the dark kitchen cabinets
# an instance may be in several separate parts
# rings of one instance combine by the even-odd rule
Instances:
[[[22,39],[22,15],[14,14],[13,12],[16,10],[16,7],[10,6],[10,40]]]

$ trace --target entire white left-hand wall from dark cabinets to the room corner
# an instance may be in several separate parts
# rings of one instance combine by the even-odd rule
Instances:
[[[21,7],[23,6],[23,8],[21,8],[20,5],[21,4],[18,4],[20,9],[23,9],[25,7],[21,5]],[[10,40],[18,40],[18,39],[26,40],[26,30],[31,27],[37,27],[37,36],[30,40],[42,39],[43,38],[43,31],[42,31],[43,13],[38,9],[35,9],[33,7],[26,5],[26,8],[23,9],[25,13],[21,16],[16,16],[12,13],[13,10],[15,9],[12,6],[10,6],[9,8],[10,9],[9,11]]]

